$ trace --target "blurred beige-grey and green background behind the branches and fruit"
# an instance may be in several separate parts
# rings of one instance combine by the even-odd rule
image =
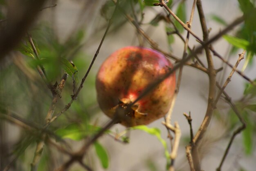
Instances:
[[[12,4],[7,0],[1,0],[0,2],[0,24],[3,26],[4,20],[9,14],[8,10],[10,9],[8,6]],[[166,31],[168,29],[166,28],[169,27],[168,24],[164,20],[156,18],[157,15],[166,15],[162,7],[144,7],[142,14],[140,3],[137,0],[120,0],[120,3],[125,12],[133,18],[136,16],[137,20],[140,21],[143,17],[140,23],[141,28],[151,39],[157,42],[160,49],[182,58],[184,43],[177,35],[167,36]],[[170,3],[171,9],[175,13],[180,8],[180,4],[183,4],[185,9],[183,11],[183,13],[185,12],[184,22],[189,20],[193,5],[192,0],[173,0]],[[60,64],[63,63],[60,62],[60,58],[65,58],[75,65],[78,71],[77,80],[80,84],[94,53],[97,51],[108,25],[108,20],[115,8],[111,1],[106,0],[49,0],[42,7],[49,7],[54,4],[57,5],[40,11],[27,31],[36,43],[41,60],[34,60],[31,57],[33,55],[29,55],[31,49],[26,49],[28,41],[27,34],[25,34],[21,42],[18,43],[19,45],[15,47],[14,51],[5,56],[0,65],[0,170],[6,169],[7,166],[9,166],[9,170],[13,171],[30,169],[36,141],[38,140],[35,135],[38,136],[38,132],[31,133],[31,131],[23,129],[17,123],[10,122],[4,115],[13,114],[22,118],[27,124],[44,125],[45,116],[52,101],[52,94],[40,78],[36,71],[36,66],[38,64],[44,65],[49,80],[54,84],[56,81],[60,81],[64,73],[65,67],[63,68]],[[210,37],[243,15],[237,0],[204,0],[202,5],[207,27],[210,29]],[[202,38],[202,29],[197,10],[195,10],[191,28],[196,35]],[[242,28],[243,24],[240,24],[228,34],[238,35]],[[185,38],[186,31],[182,31],[181,34]],[[79,150],[86,138],[92,135],[92,131],[87,130],[88,125],[103,127],[109,120],[99,109],[96,98],[95,78],[100,65],[117,49],[130,45],[138,46],[139,39],[142,40],[143,46],[150,47],[150,44],[137,34],[136,28],[120,12],[117,13],[78,98],[73,102],[70,109],[49,127],[52,132],[65,140],[72,151]],[[22,49],[22,44],[27,47]],[[193,48],[198,45],[200,44],[195,38],[190,36],[189,46]],[[238,54],[243,51],[243,49],[234,48],[223,38],[214,42],[213,47],[232,65],[236,63]],[[198,56],[207,66],[204,52],[198,54]],[[246,56],[248,57],[247,54]],[[223,67],[223,70],[217,75],[217,80],[223,83],[227,79],[231,68],[223,64],[217,57],[213,56],[213,59],[216,69]],[[245,61],[246,59],[240,62],[238,70],[243,68]],[[244,71],[244,74],[252,80],[256,77],[255,66],[256,62],[252,59]],[[56,105],[55,114],[70,102],[73,94],[73,80],[76,79],[74,77],[72,79],[72,76],[68,76],[61,99]],[[225,89],[231,99],[240,107],[239,109],[241,109],[242,113],[245,113],[243,116],[249,122],[249,130],[247,128],[246,133],[240,133],[235,138],[222,167],[224,171],[253,171],[256,167],[256,127],[254,126],[256,108],[244,112],[246,105],[255,104],[255,92],[249,95],[246,94],[245,90],[248,90],[246,84],[247,81],[235,73]],[[180,92],[172,115],[172,123],[177,121],[182,131],[179,151],[175,160],[177,171],[189,170],[185,153],[185,146],[190,141],[189,124],[183,113],[191,113],[193,131],[196,133],[207,109],[208,88],[207,74],[192,67],[184,67]],[[161,137],[167,142],[168,150],[170,151],[170,140],[167,137],[166,128],[161,123],[162,121],[164,121],[164,118],[149,124],[148,127],[157,127],[161,131]],[[202,158],[203,170],[216,170],[231,135],[238,126],[240,126],[240,122],[236,115],[225,100],[221,98],[207,134],[200,144],[199,153],[200,158]],[[72,132],[72,129],[76,132]],[[112,132],[117,133],[125,129],[120,124],[116,124],[111,128]],[[71,130],[69,134],[67,130]],[[85,155],[84,162],[95,171],[165,170],[164,147],[155,136],[140,130],[129,131],[127,136],[129,137],[129,143],[126,144],[115,140],[113,136],[108,134],[99,138],[98,142],[106,149],[108,154],[108,168],[103,168],[94,147],[91,147]],[[53,141],[62,143],[58,142],[58,140]],[[68,158],[67,155],[63,155],[56,148],[46,144],[38,170],[54,170],[67,161]],[[83,168],[79,164],[74,164],[68,170],[79,171],[83,170]]]

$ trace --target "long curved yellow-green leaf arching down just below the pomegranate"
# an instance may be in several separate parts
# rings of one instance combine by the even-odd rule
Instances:
[[[166,161],[167,161],[167,167],[170,165],[170,155],[167,149],[167,144],[166,141],[161,137],[161,131],[158,128],[149,128],[146,125],[138,125],[135,127],[130,127],[129,129],[131,130],[141,130],[141,131],[145,131],[146,133],[150,134],[150,135],[154,135],[163,145],[164,147],[164,154],[166,157]]]

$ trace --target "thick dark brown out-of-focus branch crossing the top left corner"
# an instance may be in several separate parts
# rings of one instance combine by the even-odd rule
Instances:
[[[46,0],[15,1],[8,6],[7,20],[0,27],[0,61],[20,42]]]

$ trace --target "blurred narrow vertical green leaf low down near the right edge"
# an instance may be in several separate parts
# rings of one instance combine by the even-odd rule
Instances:
[[[245,148],[245,154],[249,155],[252,154],[252,149],[253,149],[253,123],[252,121],[248,118],[248,113],[246,111],[243,112],[245,116],[245,121],[246,121],[246,129],[243,131],[243,145]]]

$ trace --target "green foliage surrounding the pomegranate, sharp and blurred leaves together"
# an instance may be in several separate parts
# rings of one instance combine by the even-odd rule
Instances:
[[[110,32],[116,33],[126,24],[127,20],[122,13],[126,13],[134,18],[139,25],[146,25],[149,28],[159,27],[159,23],[164,22],[164,31],[168,33],[166,36],[167,44],[169,49],[171,49],[176,39],[175,33],[184,33],[184,28],[172,16],[158,11],[155,11],[155,16],[153,16],[150,22],[145,24],[143,21],[146,10],[154,10],[155,3],[159,3],[159,0],[120,0],[120,7],[114,14]],[[238,49],[245,49],[247,51],[246,62],[243,68],[245,69],[248,64],[252,64],[256,53],[256,22],[254,22],[256,8],[255,4],[250,0],[238,0],[238,3],[240,10],[244,14],[245,22],[241,24],[234,35],[225,35],[223,38],[233,46],[231,53],[236,52]],[[0,0],[0,5],[6,5],[6,1]],[[169,0],[167,6],[170,9],[174,9],[173,11],[175,11],[177,17],[186,23],[188,8],[186,7],[185,0]],[[98,12],[108,22],[114,9],[115,4],[113,1],[106,0],[99,7]],[[0,20],[4,18],[5,13],[0,11]],[[209,18],[222,26],[229,24],[223,16],[218,16],[216,13],[211,14]],[[61,111],[70,102],[74,85],[76,88],[78,87],[93,57],[87,54],[89,46],[86,43],[89,40],[86,38],[91,36],[88,35],[87,31],[83,27],[78,27],[70,33],[66,40],[61,41],[54,29],[54,23],[38,20],[34,27],[28,31],[28,34],[33,38],[39,59],[36,58],[28,37],[25,36],[16,48],[16,51],[19,51],[19,55],[22,54],[19,61],[7,63],[6,66],[0,68],[0,114],[6,115],[9,112],[18,112],[16,114],[20,118],[40,127],[43,126],[52,96],[36,71],[36,66],[38,65],[45,67],[46,75],[53,84],[59,82],[65,72],[68,73],[69,77],[62,92],[62,98],[56,106],[56,113]],[[136,33],[136,30],[134,30],[134,33]],[[94,33],[92,37],[97,37],[97,33]],[[83,84],[79,97],[72,103],[70,109],[50,125],[49,130],[56,135],[56,143],[63,145],[63,141],[66,142],[67,139],[67,142],[71,141],[72,143],[83,141],[101,130],[101,127],[97,126],[97,124],[92,124],[92,118],[97,117],[95,113],[99,111],[99,107],[96,104],[94,77],[95,73],[89,74],[85,84]],[[254,124],[256,122],[256,87],[252,84],[246,84],[243,98],[236,101],[235,104],[247,123],[246,129],[242,133],[240,144],[243,144],[246,155],[252,155],[256,144],[256,126]],[[220,111],[216,113],[218,113],[215,115],[216,118],[223,122],[225,113],[223,114]],[[226,120],[227,124],[225,126],[228,133],[231,133],[241,125],[232,109],[228,109]],[[0,122],[0,127],[2,127],[2,122]],[[166,165],[167,167],[169,166],[170,158],[167,143],[161,137],[161,132],[158,128],[149,128],[141,125],[129,128],[127,131],[130,130],[141,130],[155,136],[164,147]],[[116,135],[116,133],[110,130],[107,130],[105,133]],[[29,169],[29,162],[32,160],[31,156],[34,153],[34,148],[40,135],[41,132],[39,131],[20,131],[11,149],[13,157],[18,158],[15,161],[15,166],[13,166],[14,169]],[[186,144],[189,143],[189,136],[185,135],[182,138]],[[121,141],[128,143],[129,137],[121,136]],[[97,155],[101,166],[107,169],[110,164],[108,151],[99,142],[94,143],[94,149],[94,154]],[[46,145],[38,167],[39,171],[51,170],[52,163],[56,162],[53,159],[56,159],[58,155],[61,156],[61,154],[52,154],[52,151],[53,149]],[[58,160],[63,162],[61,157]],[[151,159],[147,160],[145,164],[148,170],[159,170]],[[245,169],[241,168],[240,170]]]

